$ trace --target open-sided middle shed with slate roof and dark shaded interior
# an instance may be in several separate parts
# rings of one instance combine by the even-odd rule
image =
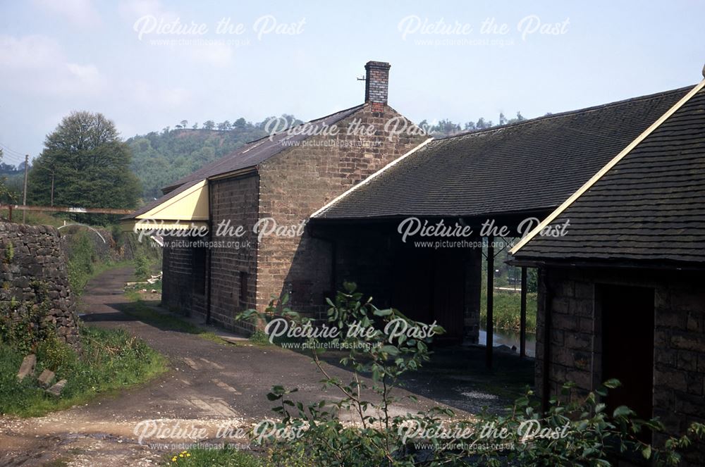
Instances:
[[[506,247],[499,232],[482,225],[491,220],[508,229],[504,237],[519,237],[527,219],[535,226],[548,216],[689,89],[435,139],[410,151],[312,216],[315,234],[334,245],[333,282],[353,280],[378,306],[435,320],[446,329],[443,340],[478,342],[480,243],[495,237],[493,258]],[[404,239],[400,228],[405,232],[410,218],[472,228],[473,235],[419,230]]]

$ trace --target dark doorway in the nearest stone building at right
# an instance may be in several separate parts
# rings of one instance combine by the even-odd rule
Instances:
[[[602,380],[617,378],[622,383],[608,393],[608,413],[625,405],[648,420],[654,409],[654,289],[601,285],[598,297]],[[650,433],[644,437],[649,441]]]

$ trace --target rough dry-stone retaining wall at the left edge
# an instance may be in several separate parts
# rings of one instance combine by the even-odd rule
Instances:
[[[47,310],[42,323],[74,348],[80,346],[78,316],[68,284],[66,253],[59,232],[46,225],[0,223],[0,306],[18,319]]]

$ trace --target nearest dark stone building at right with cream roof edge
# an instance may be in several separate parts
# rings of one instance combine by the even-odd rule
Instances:
[[[618,378],[608,408],[670,435],[705,422],[705,80],[539,228],[513,249],[540,270],[537,393]],[[695,452],[702,465],[705,444]]]

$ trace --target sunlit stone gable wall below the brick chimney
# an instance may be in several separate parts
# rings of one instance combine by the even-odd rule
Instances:
[[[393,135],[384,126],[401,117],[391,107],[372,111],[364,106],[338,123],[338,135],[310,137],[262,163],[259,219],[274,218],[278,225],[298,225],[312,213],[369,177],[387,163],[423,142],[425,136]],[[348,135],[348,124],[374,125],[374,136]],[[265,237],[257,259],[257,308],[272,294],[290,292],[291,303],[300,311],[321,312],[324,295],[331,292],[331,244],[312,237],[309,229],[301,237]]]

